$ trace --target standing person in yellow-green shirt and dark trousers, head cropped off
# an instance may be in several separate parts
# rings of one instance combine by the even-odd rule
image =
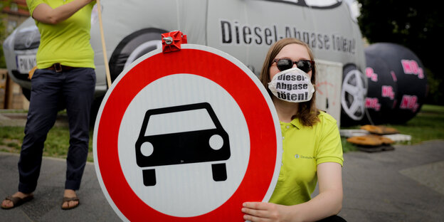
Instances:
[[[80,189],[88,156],[90,107],[96,81],[94,51],[90,46],[90,16],[95,1],[26,0],[26,4],[41,33],[41,42],[18,161],[18,192],[6,197],[1,208],[14,208],[33,199],[43,144],[60,104],[66,107],[70,128],[61,207],[75,208],[80,203],[75,191]]]

